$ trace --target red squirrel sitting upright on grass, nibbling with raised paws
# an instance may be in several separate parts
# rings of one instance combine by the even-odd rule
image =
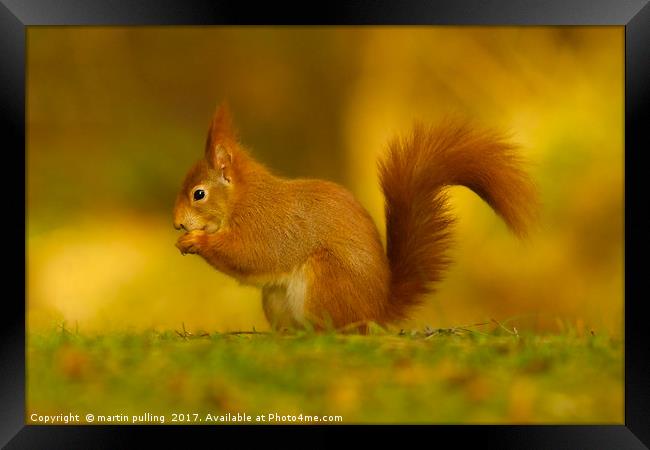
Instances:
[[[416,124],[379,161],[386,250],[361,204],[329,181],[286,179],[255,161],[228,107],[212,118],[205,154],[174,207],[176,246],[262,289],[275,330],[366,332],[408,318],[450,264],[446,188],[474,191],[523,237],[536,190],[515,146],[465,122]]]

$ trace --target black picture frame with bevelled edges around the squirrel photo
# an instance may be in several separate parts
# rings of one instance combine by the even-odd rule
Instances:
[[[625,27],[625,424],[553,426],[420,426],[431,445],[468,442],[495,448],[636,449],[650,446],[650,364],[647,319],[642,314],[644,266],[649,255],[643,233],[650,230],[644,195],[642,155],[650,149],[650,6],[648,0],[366,0],[346,2],[182,0],[0,0],[0,111],[4,171],[2,201],[7,234],[26,224],[25,60],[26,30],[39,25],[239,25],[239,24],[418,24],[418,25],[618,25]],[[469,56],[468,56],[469,57]],[[10,157],[10,160],[6,158]],[[14,176],[15,175],[15,176]],[[23,185],[19,183],[22,182]],[[7,207],[8,205],[8,207]],[[19,222],[18,224],[16,222]],[[26,236],[26,235],[25,235]],[[0,444],[6,448],[116,448],[161,435],[182,439],[176,426],[36,426],[25,424],[26,241],[7,238],[7,275],[0,326]],[[16,258],[14,258],[16,256]],[[15,261],[21,261],[18,264]],[[23,300],[20,298],[23,293]],[[204,435],[240,427],[189,427]],[[338,434],[350,427],[326,427]],[[362,427],[369,428],[369,427]],[[406,427],[398,427],[406,428]],[[411,434],[413,427],[408,427]],[[263,427],[263,432],[287,427]],[[248,435],[250,428],[244,428]],[[325,428],[291,427],[295,442]],[[383,435],[379,427],[363,430]],[[239,438],[242,433],[239,433]],[[334,437],[340,441],[339,437]],[[415,442],[403,441],[407,445]],[[219,441],[213,441],[218,443]],[[308,442],[314,442],[313,437]],[[418,444],[419,445],[419,444]]]

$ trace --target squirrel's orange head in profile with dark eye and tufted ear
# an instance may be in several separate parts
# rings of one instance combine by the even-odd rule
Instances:
[[[174,227],[186,231],[217,231],[228,215],[238,181],[242,155],[230,112],[225,104],[212,118],[205,155],[189,170],[174,206]]]

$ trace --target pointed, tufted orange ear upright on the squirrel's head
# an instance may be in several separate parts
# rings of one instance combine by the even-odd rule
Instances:
[[[232,124],[230,109],[224,102],[212,116],[205,145],[205,159],[215,170],[221,171],[223,181],[232,180],[232,152],[237,145],[237,133]]]

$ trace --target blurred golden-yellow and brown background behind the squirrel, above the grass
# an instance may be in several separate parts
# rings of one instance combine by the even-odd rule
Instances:
[[[260,293],[174,247],[172,207],[227,99],[276,173],[350,189],[413,120],[511,133],[543,202],[525,242],[465,188],[455,264],[404,328],[490,318],[623,331],[623,27],[29,27],[31,330],[268,329]]]

